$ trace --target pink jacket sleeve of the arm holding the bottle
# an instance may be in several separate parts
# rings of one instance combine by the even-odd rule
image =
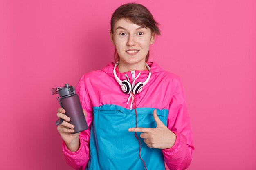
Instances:
[[[75,152],[68,150],[65,141],[63,140],[62,149],[65,157],[65,161],[69,166],[76,170],[85,170],[90,156],[90,127],[93,119],[93,110],[90,102],[90,97],[87,89],[85,89],[85,75],[81,77],[77,86],[76,94],[79,96],[83,110],[86,111],[86,122],[88,129],[81,132],[79,135],[79,149]]]

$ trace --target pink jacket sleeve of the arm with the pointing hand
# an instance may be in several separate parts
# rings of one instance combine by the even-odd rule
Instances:
[[[195,148],[181,79],[171,99],[167,127],[176,134],[176,141],[171,148],[162,149],[164,161],[170,170],[184,170],[189,167]]]

